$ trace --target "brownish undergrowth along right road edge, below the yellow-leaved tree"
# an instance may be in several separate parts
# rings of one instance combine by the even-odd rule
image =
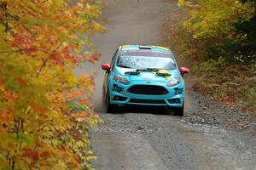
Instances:
[[[221,57],[207,58],[201,42],[183,31],[186,17],[181,9],[168,15],[163,41],[176,55],[178,65],[191,68],[189,87],[207,98],[256,113],[256,65],[230,65]]]

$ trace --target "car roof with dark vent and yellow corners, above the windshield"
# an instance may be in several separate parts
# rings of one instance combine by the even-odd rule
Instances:
[[[162,52],[172,54],[169,48],[160,47],[160,46],[145,46],[145,45],[122,45],[120,46],[121,50],[151,50],[152,52]]]

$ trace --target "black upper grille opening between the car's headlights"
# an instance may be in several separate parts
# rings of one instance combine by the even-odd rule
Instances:
[[[164,95],[168,94],[166,88],[154,85],[134,85],[128,89],[131,94]]]

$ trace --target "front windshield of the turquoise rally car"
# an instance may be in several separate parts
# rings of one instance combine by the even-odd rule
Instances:
[[[119,54],[119,67],[132,69],[174,70],[177,65],[169,53],[123,51]]]

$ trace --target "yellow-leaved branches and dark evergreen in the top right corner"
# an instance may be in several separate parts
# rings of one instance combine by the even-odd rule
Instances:
[[[256,2],[237,0],[179,0],[189,11],[185,31],[201,41],[207,56],[250,65],[256,60]]]

